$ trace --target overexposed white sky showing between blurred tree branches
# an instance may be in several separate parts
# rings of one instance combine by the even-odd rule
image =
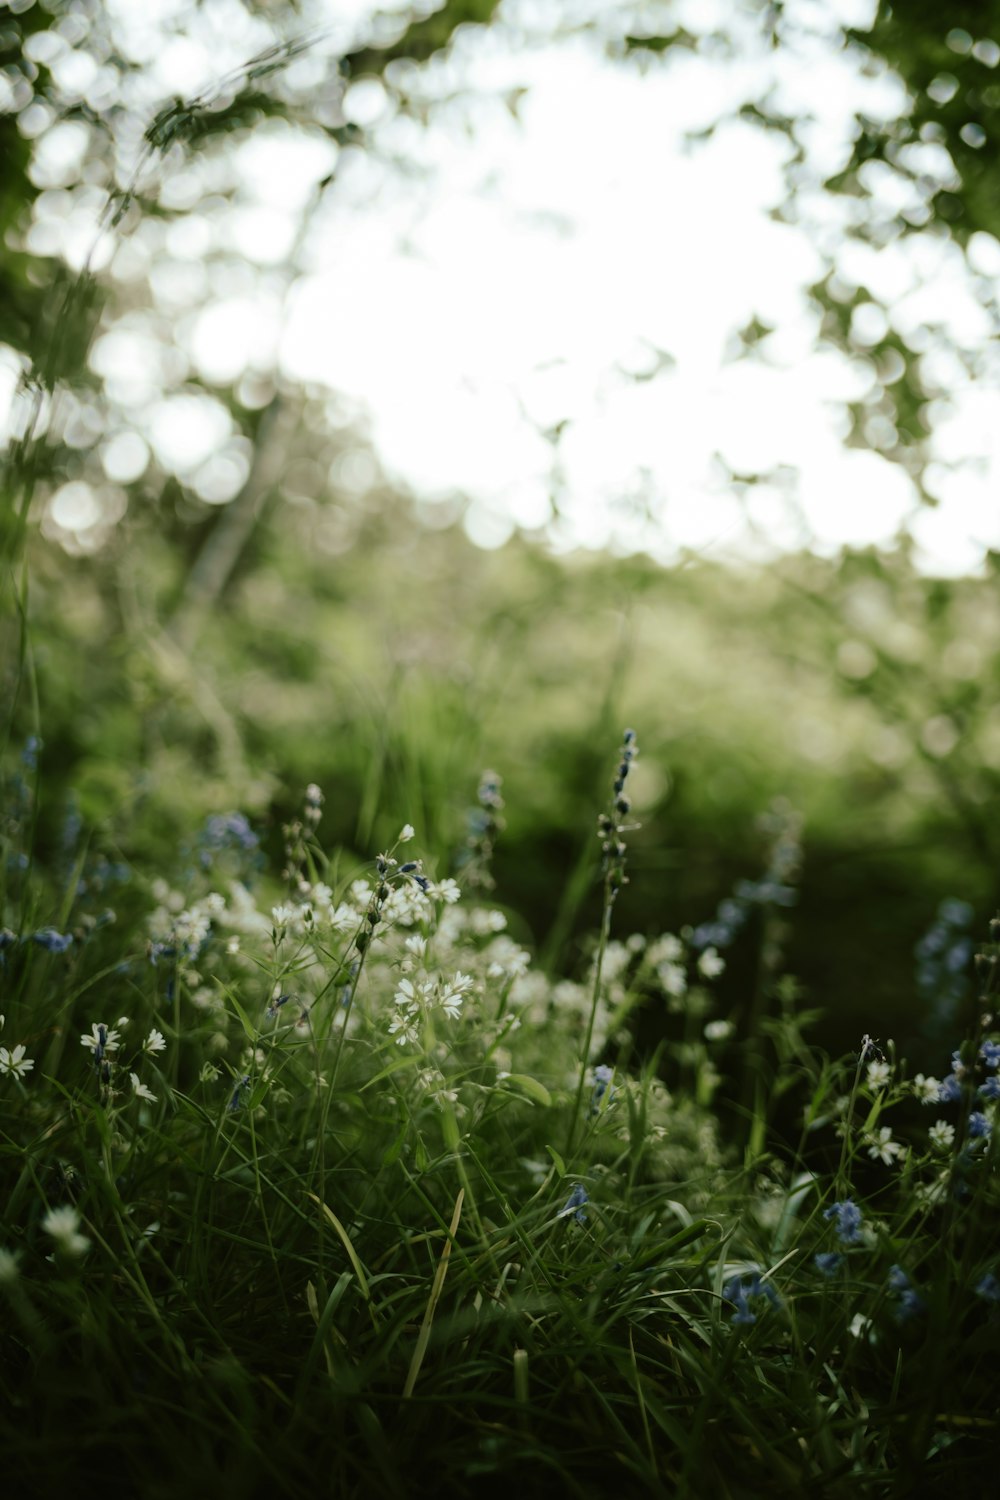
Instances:
[[[334,9],[342,30],[324,51],[369,6],[315,0],[306,12],[327,24]],[[909,524],[930,570],[976,568],[987,546],[1000,548],[1000,394],[927,332],[943,324],[960,345],[988,348],[993,328],[961,252],[931,236],[846,244],[852,202],[819,192],[805,194],[808,228],[777,222],[784,136],[730,120],[708,141],[685,140],[769,81],[780,110],[813,114],[808,172],[819,182],[835,171],[855,111],[892,116],[901,104],[898,81],[862,76],[837,45],[838,20],[864,24],[870,0],[795,0],[817,28],[798,56],[771,52],[732,3],[678,0],[675,24],[708,33],[736,18],[744,45],[735,57],[676,48],[643,69],[609,60],[568,26],[553,40],[553,14],[568,22],[580,9],[507,0],[496,26],[466,28],[448,58],[412,80],[427,98],[456,96],[426,129],[394,114],[375,81],[348,90],[346,114],[367,144],[339,160],[318,132],[259,128],[237,148],[240,195],[225,228],[202,234],[189,214],[153,266],[168,309],[171,297],[178,309],[198,302],[178,324],[189,366],[225,384],[277,360],[286,375],[330,387],[363,414],[391,477],[426,502],[471,498],[465,524],[483,546],[517,524],[546,528],[559,548],[766,555],[889,543]],[[589,9],[600,32],[616,8]],[[222,0],[205,14],[238,52],[225,10]],[[133,45],[148,36],[144,8]],[[160,100],[190,94],[217,78],[222,57],[208,33],[192,32],[150,51],[144,87]],[[504,104],[511,90],[516,114]],[[921,150],[922,171],[949,171],[943,153]],[[334,160],[334,189],[297,243],[310,189]],[[171,183],[169,162],[165,174],[168,201],[181,204],[183,174]],[[895,204],[898,180],[874,186],[889,207],[919,212],[916,189]],[[220,232],[258,267],[256,280],[198,284]],[[892,326],[927,351],[925,372],[940,381],[937,510],[921,510],[898,465],[844,446],[843,404],[876,382],[864,352],[849,360],[814,346],[807,288],[832,249],[844,292],[885,296]],[[972,260],[1000,280],[997,242],[978,236]],[[775,332],[748,358],[735,333],[751,318]],[[862,346],[882,330],[879,309],[861,309]],[[150,446],[202,498],[225,501],[247,458],[238,440],[226,447],[228,414],[169,390],[147,354],[127,328],[94,350],[94,368],[135,410],[135,432],[112,440],[105,471],[127,478],[136,444]],[[870,420],[877,432],[886,418],[873,406]],[[556,424],[558,444],[544,436]],[[756,486],[730,480],[768,471],[774,480]],[[72,502],[85,512],[76,490]]]

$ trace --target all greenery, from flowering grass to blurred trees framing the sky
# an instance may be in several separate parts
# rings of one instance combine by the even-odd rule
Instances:
[[[232,141],[277,120],[361,150],[342,74],[388,68],[417,117],[417,64],[496,8],[414,14],[315,68],[304,40],[273,46],[145,116],[111,12],[10,9],[10,1492],[982,1486],[997,558],[936,579],[906,538],[760,566],[559,555],[544,534],[484,552],[460,500],[381,476],[328,392],[276,369],[207,390],[183,358],[163,392],[225,408],[246,482],[205,498],[147,447],[114,480],[105,440],[133,408],[94,339],[153,328],[174,368],[136,266],[202,198],[235,201]],[[775,46],[783,10],[762,8]],[[945,124],[975,192],[928,198],[958,240],[993,226],[964,111],[982,86],[993,129],[1000,48],[958,26],[972,10],[925,56],[880,6],[870,44],[915,90],[945,63],[963,76]],[[87,38],[81,104],[64,54]],[[619,50],[645,68],[694,40],[646,28]],[[927,123],[918,94],[885,140],[865,126],[850,180]],[[66,180],[39,176],[31,142],[81,120]],[[46,234],[97,200],[123,254],[70,272]],[[831,278],[814,291],[850,348],[850,302]],[[892,381],[886,352],[861,357],[921,478],[939,387],[921,350]],[[96,496],[90,530],[58,524],[73,484]]]

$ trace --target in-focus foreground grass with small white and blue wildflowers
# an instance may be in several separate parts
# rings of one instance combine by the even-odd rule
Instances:
[[[723,918],[619,932],[633,729],[571,976],[492,900],[496,772],[451,852],[406,824],[348,861],[310,784],[277,867],[219,812],[169,872],[78,828],[42,870],[37,748],[4,783],[12,1492],[889,1496],[987,1472],[993,932],[934,1077],[892,1041],[813,1047],[775,954],[733,1056],[726,918],[795,902],[798,824],[772,818]],[[682,1017],[670,1066],[636,1050],[649,1010]],[[726,1128],[724,1095],[748,1101]]]

